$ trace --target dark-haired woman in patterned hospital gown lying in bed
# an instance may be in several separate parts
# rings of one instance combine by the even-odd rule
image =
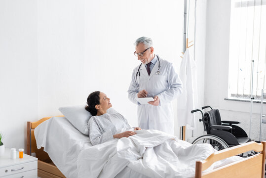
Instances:
[[[136,134],[133,131],[141,128],[131,128],[127,120],[119,113],[107,113],[112,107],[110,98],[105,93],[94,91],[87,98],[85,109],[92,117],[88,123],[89,137],[92,145],[104,143],[114,138],[128,137]]]

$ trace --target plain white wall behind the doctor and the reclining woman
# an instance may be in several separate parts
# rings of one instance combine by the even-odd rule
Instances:
[[[139,64],[134,41],[151,37],[155,53],[177,72],[184,5],[176,0],[0,1],[0,131],[6,147],[24,147],[26,122],[61,115],[101,90],[132,126],[127,99]],[[178,133],[178,132],[177,132]]]

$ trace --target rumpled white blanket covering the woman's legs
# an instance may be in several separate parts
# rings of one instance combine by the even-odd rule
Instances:
[[[82,150],[77,161],[78,178],[114,178],[126,166],[150,178],[190,178],[195,174],[195,161],[216,151],[210,144],[191,145],[156,130],[136,132]],[[208,170],[238,159],[219,161]]]

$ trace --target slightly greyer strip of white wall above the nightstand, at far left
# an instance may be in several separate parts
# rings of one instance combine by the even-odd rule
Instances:
[[[0,132],[24,148],[26,121],[38,117],[37,1],[0,1]]]

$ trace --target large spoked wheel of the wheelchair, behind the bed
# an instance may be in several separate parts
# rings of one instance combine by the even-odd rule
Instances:
[[[192,144],[199,143],[209,143],[217,151],[229,148],[228,144],[222,138],[210,134],[201,135],[192,142]]]

